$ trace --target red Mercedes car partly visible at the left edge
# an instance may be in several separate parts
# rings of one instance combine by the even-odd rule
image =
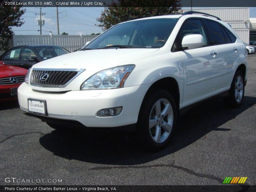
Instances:
[[[25,81],[27,71],[0,61],[0,102],[17,99],[18,87]]]

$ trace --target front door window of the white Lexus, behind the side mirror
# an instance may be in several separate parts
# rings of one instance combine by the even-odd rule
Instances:
[[[181,42],[184,36],[191,35],[191,34],[200,34],[204,38],[204,46],[208,45],[208,39],[206,35],[206,29],[203,25],[203,22],[199,19],[192,19],[185,21],[182,25],[172,47],[172,51],[180,51],[182,47]]]

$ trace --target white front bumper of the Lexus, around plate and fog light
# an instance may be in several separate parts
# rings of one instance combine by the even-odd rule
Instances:
[[[46,100],[47,116],[75,120],[86,127],[119,127],[135,124],[140,105],[150,85],[109,90],[40,92],[23,83],[18,89],[20,108],[28,112],[28,98]],[[120,115],[98,117],[100,109],[122,106]]]

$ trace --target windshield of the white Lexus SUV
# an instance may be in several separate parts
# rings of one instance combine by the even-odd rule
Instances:
[[[81,50],[159,48],[164,46],[178,18],[147,19],[116,25]]]

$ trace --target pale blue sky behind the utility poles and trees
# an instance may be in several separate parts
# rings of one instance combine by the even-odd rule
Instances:
[[[185,7],[184,7],[185,8]],[[103,7],[59,7],[59,26],[60,34],[66,32],[69,35],[87,35],[91,33],[101,33],[96,18],[100,17]],[[40,32],[37,21],[40,9],[36,7],[26,7],[26,13],[23,15],[25,24],[21,27],[14,27],[12,30],[16,35],[39,35]],[[56,7],[43,7],[42,13],[45,25],[42,27],[42,35],[57,34]],[[250,17],[256,17],[256,7],[250,7]]]

